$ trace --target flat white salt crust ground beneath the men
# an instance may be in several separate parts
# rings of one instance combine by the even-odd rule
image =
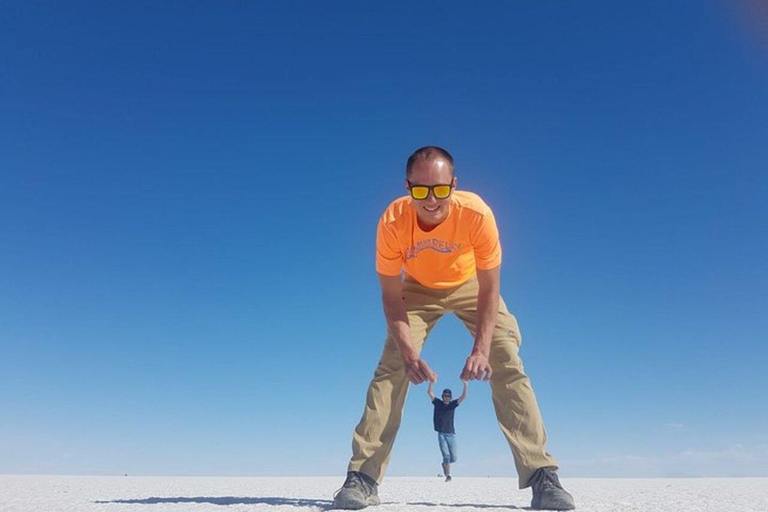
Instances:
[[[768,512],[768,478],[563,479],[577,510]],[[2,512],[302,512],[331,508],[342,478],[0,475]],[[387,478],[373,512],[526,510],[512,479]]]

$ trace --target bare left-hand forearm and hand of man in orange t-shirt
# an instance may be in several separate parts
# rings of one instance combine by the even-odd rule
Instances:
[[[379,283],[381,284],[381,302],[384,306],[387,327],[400,351],[403,363],[405,363],[405,374],[408,376],[408,380],[414,384],[421,384],[425,380],[436,381],[437,375],[413,348],[411,327],[408,323],[408,314],[403,300],[402,278],[379,274]]]

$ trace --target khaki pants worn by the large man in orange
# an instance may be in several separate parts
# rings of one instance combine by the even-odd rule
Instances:
[[[477,278],[447,290],[435,290],[406,279],[404,300],[411,326],[411,339],[417,352],[443,314],[454,312],[475,335],[477,325]],[[541,467],[557,467],[547,453],[547,434],[536,396],[517,355],[520,347],[517,320],[499,301],[499,314],[491,341],[489,362],[493,369],[491,392],[496,418],[512,450],[520,488]],[[381,483],[389,464],[392,445],[400,427],[408,378],[403,360],[391,333],[368,387],[365,410],[352,437],[349,471],[360,471]]]

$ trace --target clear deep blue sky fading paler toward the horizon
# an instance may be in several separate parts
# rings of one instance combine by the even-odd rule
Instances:
[[[339,475],[448,148],[564,476],[768,476],[758,2],[5,2],[0,473]],[[472,340],[424,357],[456,388]],[[433,475],[423,386],[390,474]],[[457,475],[514,467],[485,385]]]

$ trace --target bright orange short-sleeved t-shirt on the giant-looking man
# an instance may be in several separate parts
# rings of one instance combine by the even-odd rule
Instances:
[[[448,217],[430,231],[417,222],[410,196],[393,201],[379,219],[376,271],[385,276],[406,274],[428,288],[451,288],[477,269],[501,265],[496,219],[480,196],[456,190]]]

